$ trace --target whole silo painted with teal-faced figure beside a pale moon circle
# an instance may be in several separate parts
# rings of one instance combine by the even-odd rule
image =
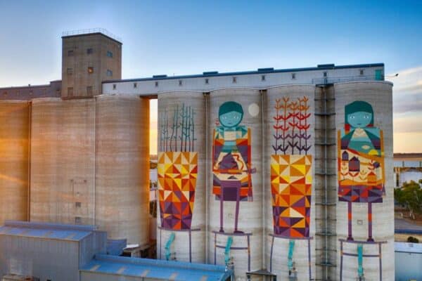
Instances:
[[[262,94],[212,91],[208,108],[208,262],[241,277],[263,267]]]

